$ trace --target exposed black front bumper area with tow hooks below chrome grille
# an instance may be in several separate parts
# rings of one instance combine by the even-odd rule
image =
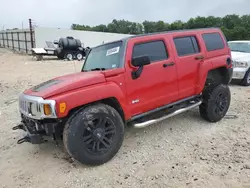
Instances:
[[[61,120],[35,120],[21,116],[21,123],[13,127],[13,130],[23,130],[26,134],[23,138],[17,141],[17,144],[29,142],[31,144],[42,144],[47,142],[46,138],[61,137],[62,123]]]

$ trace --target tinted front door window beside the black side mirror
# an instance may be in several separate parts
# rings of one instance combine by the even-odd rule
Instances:
[[[133,49],[133,58],[147,55],[151,62],[167,59],[167,50],[163,41],[154,41],[136,44]]]

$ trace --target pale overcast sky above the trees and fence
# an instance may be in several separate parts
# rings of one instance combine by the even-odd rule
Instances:
[[[72,23],[108,24],[113,19],[187,21],[196,16],[250,14],[250,0],[0,0],[0,30],[39,27],[70,28]]]

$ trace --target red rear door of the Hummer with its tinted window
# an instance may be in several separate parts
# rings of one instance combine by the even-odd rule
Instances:
[[[195,34],[173,36],[173,46],[179,81],[179,99],[183,99],[195,94],[197,73],[204,59],[204,52],[201,51],[198,36]]]

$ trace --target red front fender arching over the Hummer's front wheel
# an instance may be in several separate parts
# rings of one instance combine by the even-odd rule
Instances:
[[[122,92],[122,89],[117,84],[112,82],[80,88],[57,96],[53,96],[51,99],[56,101],[57,117],[63,118],[68,115],[70,110],[76,107],[80,107],[85,104],[111,97],[116,98],[120,103],[125,118],[127,119],[128,117],[130,117],[126,105],[126,98],[124,93]],[[60,113],[60,103],[66,103],[66,111],[64,113]]]

